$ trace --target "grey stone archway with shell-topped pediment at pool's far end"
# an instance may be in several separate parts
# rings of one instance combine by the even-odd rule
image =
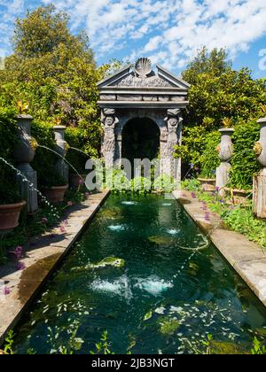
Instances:
[[[121,159],[122,131],[129,120],[149,118],[160,128],[160,159],[163,173],[172,173],[174,146],[182,142],[182,109],[188,105],[190,85],[147,58],[137,60],[98,83],[104,129],[102,155],[106,167]],[[180,179],[181,162],[176,171]]]

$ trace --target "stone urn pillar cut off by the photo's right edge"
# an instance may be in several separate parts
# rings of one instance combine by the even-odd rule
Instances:
[[[266,219],[266,118],[258,120],[261,125],[260,141],[254,144],[254,152],[262,165],[262,170],[254,176],[253,210],[254,214]]]

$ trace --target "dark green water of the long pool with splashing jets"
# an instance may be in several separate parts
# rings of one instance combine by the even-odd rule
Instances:
[[[114,353],[199,353],[207,335],[217,353],[246,353],[266,312],[176,200],[111,196],[15,329],[15,351],[89,353],[104,330]]]

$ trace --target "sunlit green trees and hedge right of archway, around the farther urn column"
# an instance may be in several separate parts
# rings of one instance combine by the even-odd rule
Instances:
[[[189,90],[189,114],[184,118],[183,145],[176,148],[176,157],[200,167],[203,176],[210,176],[210,171],[218,165],[216,130],[227,118],[227,125],[230,122],[236,128],[233,136],[236,149],[232,159],[232,174],[236,178],[232,178],[232,184],[250,187],[258,168],[252,142],[259,130],[252,123],[262,115],[266,103],[266,81],[254,80],[246,68],[232,70],[225,50],[208,52],[206,48],[199,50],[182,75],[192,87]],[[245,141],[246,154],[243,156]]]

